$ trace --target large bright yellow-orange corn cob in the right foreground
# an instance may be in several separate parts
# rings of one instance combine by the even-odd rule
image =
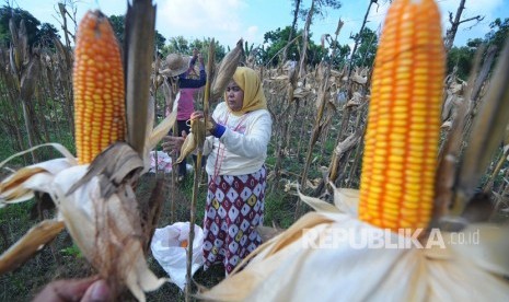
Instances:
[[[428,225],[443,72],[444,49],[435,1],[394,1],[373,70],[360,220],[395,232]]]

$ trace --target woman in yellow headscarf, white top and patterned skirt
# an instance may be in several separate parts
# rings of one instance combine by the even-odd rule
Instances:
[[[192,118],[203,117],[201,112]],[[267,171],[265,160],[273,120],[256,71],[238,67],[211,116],[207,137],[207,204],[204,219],[204,268],[220,263],[229,275],[262,237]],[[178,149],[184,139],[166,137],[163,149]]]

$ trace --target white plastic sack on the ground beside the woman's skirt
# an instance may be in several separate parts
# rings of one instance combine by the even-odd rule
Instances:
[[[152,255],[167,272],[172,282],[182,290],[186,284],[186,247],[181,247],[182,242],[189,239],[189,222],[175,222],[163,229],[155,229],[150,248]],[[194,275],[204,265],[204,230],[195,224],[195,240],[193,242]]]

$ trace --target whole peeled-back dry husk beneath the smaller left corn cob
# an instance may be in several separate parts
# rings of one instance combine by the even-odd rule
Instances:
[[[21,169],[5,178],[0,184],[0,206],[27,200],[33,191],[48,193],[57,206],[58,220],[63,221],[99,274],[115,287],[125,284],[139,301],[144,301],[143,292],[158,289],[166,279],[158,279],[144,259],[143,230],[131,187],[136,179],[132,175],[143,170],[142,159],[127,143],[117,142],[90,166],[77,165],[63,147],[49,146],[62,151],[66,158]],[[59,221],[50,225],[51,231],[45,236],[34,234],[49,222],[35,226],[2,254],[0,272],[13,269],[13,264],[23,263],[53,240],[61,230]],[[25,247],[24,253],[12,252],[21,247]]]

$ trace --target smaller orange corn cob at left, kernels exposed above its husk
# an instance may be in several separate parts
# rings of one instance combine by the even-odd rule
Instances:
[[[83,164],[126,136],[120,49],[104,14],[85,14],[78,27],[74,54],[76,149]]]

